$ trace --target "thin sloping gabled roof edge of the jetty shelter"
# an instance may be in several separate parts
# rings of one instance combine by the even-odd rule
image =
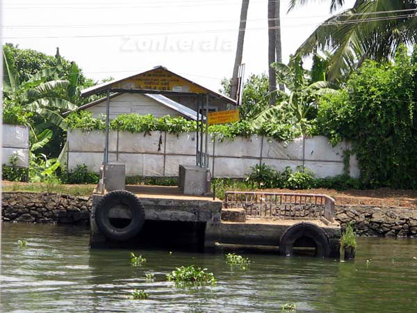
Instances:
[[[214,97],[218,97],[220,99],[223,99],[224,101],[226,101],[229,104],[236,105],[236,100],[235,99],[231,99],[230,97],[227,97],[225,95],[222,95],[221,93],[217,93],[217,92],[215,92],[213,90],[210,90],[210,89],[208,89],[208,88],[206,88],[204,86],[201,86],[198,83],[195,83],[194,81],[191,81],[190,79],[186,79],[185,77],[182,77],[179,74],[176,74],[174,72],[171,72],[170,70],[167,70],[167,68],[166,67],[163,67],[163,66],[157,66],[157,67],[154,67],[152,70],[148,70],[148,71],[141,72],[141,73],[138,73],[138,74],[130,75],[128,77],[124,77],[122,79],[117,79],[117,80],[114,80],[114,81],[107,81],[106,83],[101,83],[101,84],[99,84],[97,86],[92,86],[90,88],[86,88],[84,90],[81,90],[81,97],[87,97],[89,95],[95,95],[97,93],[101,93],[104,90],[107,90],[108,88],[111,88],[112,85],[115,85],[117,83],[120,83],[122,81],[125,81],[126,79],[133,79],[134,77],[136,77],[136,76],[138,76],[140,74],[145,74],[147,72],[151,72],[151,71],[153,71],[155,69],[158,69],[158,68],[161,68],[161,69],[169,72],[170,74],[176,75],[177,77],[180,77],[181,79],[184,79],[184,80],[188,81],[189,83],[192,83],[195,86],[198,86],[199,88],[202,88],[202,89],[206,90],[206,92],[208,94],[213,95]],[[161,93],[163,93],[163,91],[161,91]]]

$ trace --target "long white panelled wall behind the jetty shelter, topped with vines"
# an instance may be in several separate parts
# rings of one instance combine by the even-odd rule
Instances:
[[[104,131],[69,130],[68,169],[85,164],[89,170],[99,172],[103,161],[104,137]],[[295,169],[304,165],[316,177],[332,177],[343,174],[343,151],[349,149],[347,143],[332,147],[323,136],[297,138],[288,145],[257,135],[221,142],[211,139],[208,152],[213,177],[246,177],[252,171],[251,166],[259,163],[266,163],[279,171],[287,166]],[[173,177],[178,175],[179,164],[195,164],[195,145],[195,133],[176,135],[152,131],[150,134],[131,134],[112,131],[109,160],[124,161],[126,176]],[[354,156],[350,157],[350,175],[359,176]]]

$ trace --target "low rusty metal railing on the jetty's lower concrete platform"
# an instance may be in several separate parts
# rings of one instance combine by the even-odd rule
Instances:
[[[227,191],[223,204],[226,209],[243,208],[247,216],[334,222],[334,199],[328,195]]]

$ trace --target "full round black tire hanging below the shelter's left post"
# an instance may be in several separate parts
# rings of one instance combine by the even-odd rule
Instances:
[[[108,212],[118,204],[123,204],[131,210],[131,222],[123,228],[115,227],[108,218]],[[124,241],[136,236],[142,229],[143,223],[145,223],[145,209],[133,193],[124,190],[111,191],[104,195],[97,204],[95,221],[106,238]]]

